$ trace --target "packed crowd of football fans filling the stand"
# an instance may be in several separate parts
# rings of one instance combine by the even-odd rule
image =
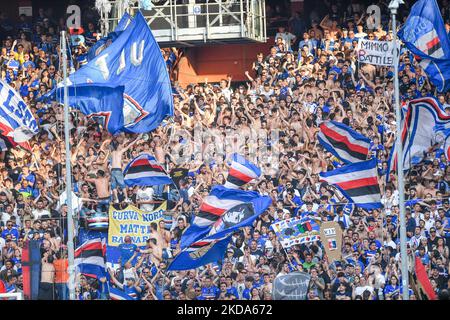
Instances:
[[[101,288],[109,281],[110,286],[143,300],[270,300],[274,279],[294,271],[311,275],[308,300],[402,298],[396,175],[392,173],[386,182],[387,160],[395,142],[394,73],[393,68],[358,64],[355,52],[359,38],[392,39],[386,1],[379,1],[382,25],[375,30],[366,26],[364,6],[342,6],[340,1],[318,3],[323,4],[320,11],[303,16],[291,13],[287,24],[279,27],[270,52],[259,53],[249,66],[247,82],[239,84],[229,78],[219,84],[185,88],[174,83],[178,94],[174,96],[173,121],[150,133],[149,139],[124,134],[112,137],[94,119],[72,111],[77,217],[105,211],[110,202],[132,202],[142,210],[151,210],[153,202],[164,197],[167,189],[124,187],[111,170],[114,152],[120,153],[122,169],[144,151],[155,155],[168,171],[189,169],[179,183],[179,198],[174,198],[147,248],[138,249],[126,239],[119,268],[108,270],[110,280],[78,275],[77,299],[108,299],[108,292]],[[448,19],[448,12],[443,16]],[[89,46],[98,38],[94,20],[85,22],[85,29],[72,30],[69,39],[73,69],[87,63]],[[30,141],[31,151],[12,148],[6,139],[1,140],[0,279],[7,292],[21,292],[24,242],[40,240],[39,299],[67,298],[63,111],[55,103],[37,102],[61,81],[59,30],[63,25],[51,10],[40,9],[33,19],[21,16],[17,23],[4,13],[0,15],[1,77],[20,93],[40,127]],[[169,72],[176,72],[179,51],[164,50],[163,55]],[[435,88],[407,50],[402,49],[400,60],[402,104],[436,96]],[[437,99],[450,115],[450,94],[437,94]],[[318,125],[326,120],[342,122],[373,142],[371,156],[379,163],[383,209],[344,210],[346,200],[339,192],[319,182],[320,172],[339,166],[316,137]],[[257,151],[264,147],[265,156],[256,158],[262,176],[250,186],[270,196],[273,204],[252,227],[233,235],[223,261],[196,270],[167,271],[201,199],[213,185],[224,183],[228,171],[228,152],[208,148],[201,154],[192,152],[196,150],[195,139],[189,137],[194,137],[194,130],[214,134],[216,138],[204,141],[205,145],[217,144],[217,137],[237,132],[244,141],[239,151],[245,153],[252,143],[257,144]],[[255,130],[265,134],[260,137],[262,142],[252,140]],[[187,132],[187,138],[174,134],[181,131]],[[273,132],[277,132],[276,139]],[[179,151],[186,148],[184,155],[195,156],[180,163]],[[433,289],[445,298],[449,284],[450,165],[441,146],[430,149],[405,180],[408,261],[412,265],[413,256],[419,256]],[[321,242],[284,249],[270,226],[296,216],[337,221],[343,229],[342,260],[328,261]],[[417,298],[414,290],[410,294],[411,299]]]

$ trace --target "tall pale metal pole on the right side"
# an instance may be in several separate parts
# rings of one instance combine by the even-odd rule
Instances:
[[[400,52],[397,49],[397,9],[403,0],[392,0],[389,4],[392,18],[392,35],[394,42],[394,105],[396,113],[396,129],[397,129],[397,183],[399,192],[399,209],[400,209],[400,254],[401,254],[401,274],[403,300],[409,300],[409,276],[408,276],[408,253],[406,249],[406,215],[405,215],[405,178],[403,175],[403,146],[402,146],[402,126],[401,126],[401,107],[398,83],[398,64]]]

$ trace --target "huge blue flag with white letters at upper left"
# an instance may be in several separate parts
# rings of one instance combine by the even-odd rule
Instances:
[[[150,132],[166,116],[173,115],[172,87],[166,63],[140,12],[108,48],[70,75],[68,85],[76,88],[70,92],[73,104],[82,103],[85,99],[86,96],[77,94],[77,88],[87,83],[117,90],[124,86],[123,103],[117,101],[99,106],[100,102],[92,100],[83,109],[87,116],[109,118],[108,129],[120,128],[110,131],[113,134],[119,131]],[[58,100],[61,101],[62,90],[58,91]],[[115,113],[123,113],[123,117],[116,117]]]

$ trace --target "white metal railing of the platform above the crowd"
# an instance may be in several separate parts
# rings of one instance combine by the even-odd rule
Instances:
[[[111,3],[108,31],[124,14],[116,1]],[[150,10],[138,3],[128,11],[134,14],[137,10],[142,11],[160,43],[266,41],[265,0],[166,0]]]

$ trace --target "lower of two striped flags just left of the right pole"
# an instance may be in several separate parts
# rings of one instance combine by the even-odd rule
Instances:
[[[375,158],[322,172],[320,180],[336,186],[343,196],[358,207],[366,210],[381,207]]]

